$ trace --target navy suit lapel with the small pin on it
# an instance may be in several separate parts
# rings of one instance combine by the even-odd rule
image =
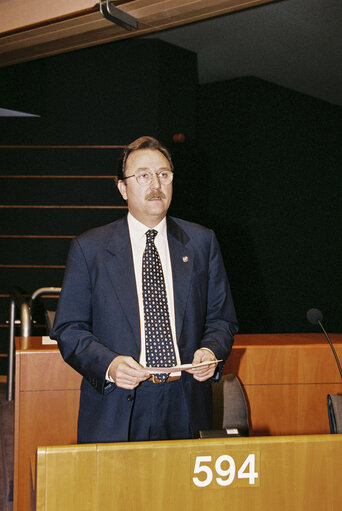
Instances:
[[[170,217],[167,217],[167,232],[173,276],[176,335],[179,343],[190,290],[194,253],[188,244],[189,236]]]

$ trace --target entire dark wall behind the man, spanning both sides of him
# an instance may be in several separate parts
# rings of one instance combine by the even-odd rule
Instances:
[[[40,115],[0,118],[2,144],[169,145],[170,212],[216,231],[241,332],[315,331],[312,306],[341,331],[341,108],[254,78],[198,88],[196,55],[154,40],[0,69],[0,97]],[[10,288],[60,285],[70,237],[125,214],[118,153],[1,150],[0,353]]]

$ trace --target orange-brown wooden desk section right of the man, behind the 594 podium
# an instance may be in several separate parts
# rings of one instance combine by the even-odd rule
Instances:
[[[342,360],[342,334],[331,334]],[[329,433],[327,394],[341,376],[323,334],[237,335],[224,373],[244,385],[253,435]]]

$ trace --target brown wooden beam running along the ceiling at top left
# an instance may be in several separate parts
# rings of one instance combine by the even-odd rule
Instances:
[[[135,17],[139,24],[137,30],[127,31],[104,19],[98,11],[89,10],[93,4],[87,0],[79,0],[77,5],[73,3],[72,12],[70,2],[57,2],[54,10],[49,5],[46,11],[46,2],[36,0],[32,10],[27,6],[28,12],[24,18],[17,15],[18,11],[22,11],[22,3],[14,0],[11,3],[13,11],[9,12],[8,4],[0,8],[0,19],[2,11],[8,14],[7,19],[3,18],[0,22],[0,66],[157,32],[271,1],[274,0],[135,0],[120,5],[120,9]],[[40,4],[42,9],[39,8]],[[31,9],[31,3],[29,5]],[[83,10],[81,7],[79,13],[75,14],[80,6]],[[63,14],[71,15],[71,19],[64,19]],[[54,22],[51,19],[53,16],[59,18]],[[44,17],[46,26],[43,24]],[[22,26],[23,19],[26,26]],[[40,24],[35,26],[35,22]],[[28,24],[32,27],[28,27]]]

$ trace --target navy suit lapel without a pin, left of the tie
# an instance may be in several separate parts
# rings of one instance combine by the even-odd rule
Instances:
[[[140,352],[140,318],[127,217],[118,220],[107,245],[106,267]]]

